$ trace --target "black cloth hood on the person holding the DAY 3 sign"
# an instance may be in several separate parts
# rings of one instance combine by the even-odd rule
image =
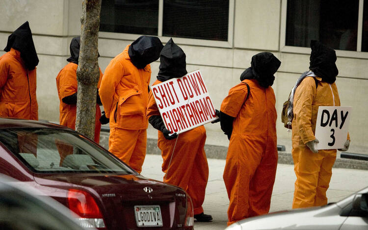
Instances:
[[[335,64],[337,59],[335,50],[316,40],[311,41],[311,49],[309,69],[316,76],[322,78],[322,81],[329,84],[334,83],[336,76],[339,74],[339,70]]]

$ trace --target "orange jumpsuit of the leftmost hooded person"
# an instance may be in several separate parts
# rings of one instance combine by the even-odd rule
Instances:
[[[36,69],[26,69],[13,48],[0,57],[0,116],[38,120]]]

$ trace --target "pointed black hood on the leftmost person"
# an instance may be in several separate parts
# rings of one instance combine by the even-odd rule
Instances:
[[[21,58],[27,69],[33,70],[38,65],[38,56],[28,21],[9,35],[4,51],[9,52],[10,48],[21,52]]]

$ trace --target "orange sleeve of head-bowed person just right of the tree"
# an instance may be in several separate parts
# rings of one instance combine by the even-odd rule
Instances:
[[[111,108],[114,108],[113,102],[115,90],[123,75],[124,67],[120,62],[113,60],[108,64],[99,88],[99,94],[102,105],[104,106],[106,117],[110,117]]]

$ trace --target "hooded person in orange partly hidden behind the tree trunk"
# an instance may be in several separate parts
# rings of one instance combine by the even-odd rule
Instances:
[[[70,43],[70,54],[71,56],[67,59],[69,62],[63,69],[60,70],[56,77],[57,94],[60,99],[60,125],[69,127],[71,129],[76,128],[76,116],[77,116],[77,68],[79,59],[79,46],[80,38],[75,37]],[[100,87],[102,72],[100,69],[100,80],[97,88]],[[97,104],[96,104],[96,120],[95,120],[95,136],[94,140],[96,143],[100,142],[100,131],[101,131],[101,100],[97,92]]]

